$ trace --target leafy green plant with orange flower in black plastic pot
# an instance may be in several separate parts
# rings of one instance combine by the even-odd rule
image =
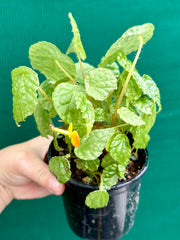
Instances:
[[[95,68],[84,62],[79,29],[69,18],[73,39],[66,54],[45,41],[29,49],[32,68],[45,76],[41,84],[29,67],[12,71],[14,119],[19,124],[33,115],[40,134],[54,137],[49,169],[66,183],[63,199],[74,232],[118,239],[133,224],[149,131],[161,110],[155,82],[135,69],[154,26],[128,29]]]

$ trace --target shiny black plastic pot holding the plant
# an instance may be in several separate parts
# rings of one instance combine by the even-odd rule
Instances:
[[[50,149],[49,157],[52,156]],[[149,159],[147,150],[140,151],[144,165],[132,179],[113,186],[109,192],[108,206],[90,209],[85,205],[86,196],[97,188],[71,179],[66,183],[63,202],[71,229],[81,238],[92,240],[116,240],[133,226],[139,202],[141,177]]]

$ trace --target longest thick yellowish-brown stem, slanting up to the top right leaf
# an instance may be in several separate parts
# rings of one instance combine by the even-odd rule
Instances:
[[[131,75],[132,75],[133,70],[134,70],[134,68],[135,68],[135,65],[136,65],[136,63],[137,63],[137,60],[138,60],[138,58],[139,58],[139,55],[140,55],[140,52],[141,52],[141,49],[142,49],[142,46],[143,46],[143,39],[142,39],[141,36],[139,36],[139,41],[140,41],[139,49],[138,49],[138,52],[137,52],[137,54],[136,54],[136,57],[135,57],[135,59],[134,59],[134,61],[133,61],[133,64],[132,64],[132,66],[131,66],[131,69],[130,69],[130,71],[129,71],[129,73],[128,73],[128,76],[127,76],[127,78],[126,78],[126,81],[125,81],[125,83],[124,83],[123,89],[122,89],[121,94],[120,94],[119,99],[118,99],[118,102],[117,102],[117,104],[116,104],[115,112],[114,112],[114,115],[113,115],[113,117],[112,117],[111,126],[113,126],[114,123],[115,123],[115,121],[116,121],[117,111],[118,111],[119,106],[120,106],[120,104],[121,104],[121,101],[122,101],[122,99],[123,99],[124,93],[125,93],[126,88],[127,88],[127,86],[128,86],[129,80],[130,80],[130,78],[131,78]]]

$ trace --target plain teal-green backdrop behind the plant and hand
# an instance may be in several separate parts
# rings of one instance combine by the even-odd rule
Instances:
[[[66,52],[75,17],[87,54],[97,65],[129,27],[152,22],[155,32],[137,68],[161,91],[162,112],[151,131],[150,166],[142,179],[135,224],[123,240],[180,239],[180,1],[0,0],[0,148],[38,135],[30,117],[17,128],[12,117],[11,70],[30,66],[28,48],[45,40]],[[111,221],[111,219],[110,219]],[[14,200],[0,215],[0,240],[79,239],[70,230],[62,199]]]

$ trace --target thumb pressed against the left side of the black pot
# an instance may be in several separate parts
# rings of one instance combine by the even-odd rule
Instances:
[[[64,184],[60,184],[50,173],[47,164],[45,164],[37,155],[30,152],[24,152],[19,157],[18,171],[49,192],[59,195],[64,191]]]

